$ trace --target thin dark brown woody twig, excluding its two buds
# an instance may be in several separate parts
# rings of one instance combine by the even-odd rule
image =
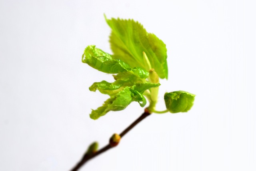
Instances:
[[[142,121],[149,115],[150,115],[150,111],[148,111],[148,109],[145,109],[144,113],[142,113],[142,115],[140,115],[140,117],[138,117],[138,119],[136,119],[131,125],[129,125],[126,129],[124,129],[124,131],[122,131],[122,133],[120,133],[120,137],[123,137],[133,127],[135,127],[138,123],[140,123],[140,121]],[[82,157],[82,159],[76,164],[76,166],[71,171],[78,171],[78,169],[80,169],[88,160],[100,155],[101,153],[104,153],[105,151],[111,149],[112,147],[115,147],[116,145],[113,146],[111,143],[111,140],[112,139],[110,138],[110,143],[108,145],[106,145],[105,147],[103,147],[102,149],[96,151],[95,153],[92,153],[92,154],[85,153],[85,155]]]

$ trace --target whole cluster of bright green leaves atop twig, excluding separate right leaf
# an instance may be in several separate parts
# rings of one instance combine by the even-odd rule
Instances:
[[[112,29],[110,55],[94,45],[87,46],[82,62],[104,73],[114,74],[114,82],[95,82],[90,91],[109,95],[101,107],[92,110],[90,117],[98,119],[108,111],[125,109],[132,101],[141,107],[150,102],[148,109],[154,110],[158,99],[159,78],[168,78],[167,50],[162,40],[146,32],[134,20],[107,19]]]

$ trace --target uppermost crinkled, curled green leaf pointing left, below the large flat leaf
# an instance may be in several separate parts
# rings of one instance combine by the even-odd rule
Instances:
[[[95,46],[87,46],[82,56],[82,62],[88,64],[92,68],[109,74],[118,74],[120,72],[133,72],[140,78],[147,78],[148,72],[142,68],[131,68],[128,64],[119,59],[113,59],[110,54],[95,48]]]

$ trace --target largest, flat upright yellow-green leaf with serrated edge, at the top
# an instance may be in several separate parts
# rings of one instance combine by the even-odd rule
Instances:
[[[106,22],[112,28],[110,46],[114,59],[120,59],[131,67],[149,71],[151,68],[143,57],[145,52],[151,67],[156,70],[159,77],[168,78],[167,50],[162,40],[146,32],[143,26],[134,20],[106,18]]]

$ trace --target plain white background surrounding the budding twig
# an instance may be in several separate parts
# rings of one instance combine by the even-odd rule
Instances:
[[[108,18],[133,18],[168,49],[166,91],[196,94],[188,113],[152,114],[81,171],[255,171],[254,0],[1,0],[0,170],[68,171],[88,145],[108,143],[143,109],[132,103],[94,121],[112,81],[81,62],[111,53]]]

